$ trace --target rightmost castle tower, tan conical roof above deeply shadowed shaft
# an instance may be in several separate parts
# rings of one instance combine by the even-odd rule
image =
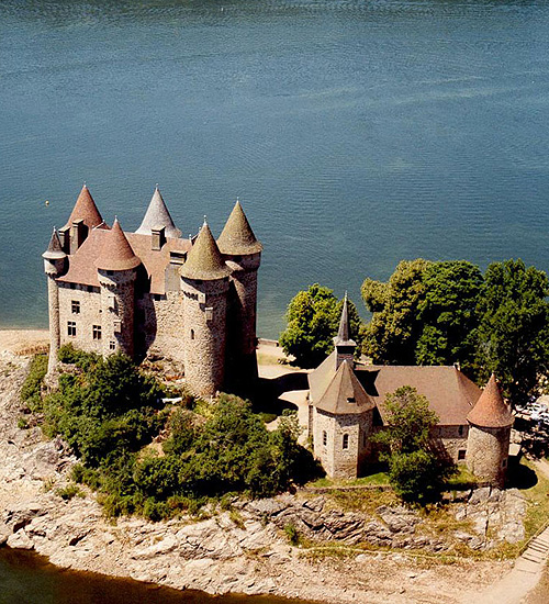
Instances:
[[[257,378],[257,270],[262,250],[239,201],[236,201],[217,245],[232,270],[227,370],[231,376],[238,376],[239,383],[232,384],[238,390]]]

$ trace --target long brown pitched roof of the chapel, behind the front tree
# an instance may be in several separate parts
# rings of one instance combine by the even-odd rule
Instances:
[[[402,385],[411,385],[427,398],[439,425],[467,425],[467,416],[482,393],[453,366],[363,366],[357,368],[357,378],[372,395],[383,422],[386,394]]]

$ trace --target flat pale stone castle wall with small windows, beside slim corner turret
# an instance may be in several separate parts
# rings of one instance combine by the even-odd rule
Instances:
[[[72,283],[58,283],[59,287],[59,327],[60,344],[74,344],[75,347],[87,353],[102,353],[102,339],[105,337],[101,331],[102,339],[93,339],[93,325],[102,326],[101,295],[99,288],[79,286]],[[80,312],[72,312],[72,301],[80,303]],[[68,322],[76,323],[76,336],[68,335]]]

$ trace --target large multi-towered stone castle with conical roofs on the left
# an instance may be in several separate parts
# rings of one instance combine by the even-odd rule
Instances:
[[[237,201],[217,241],[204,219],[182,238],[158,187],[135,233],[109,226],[86,184],[43,254],[49,363],[59,346],[144,358],[149,349],[184,367],[198,394],[257,377],[256,303],[261,244]]]

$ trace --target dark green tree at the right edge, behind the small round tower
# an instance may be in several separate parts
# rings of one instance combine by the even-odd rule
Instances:
[[[549,280],[523,260],[488,267],[480,298],[477,362],[480,381],[494,372],[513,404],[536,390],[547,372],[549,353]]]

